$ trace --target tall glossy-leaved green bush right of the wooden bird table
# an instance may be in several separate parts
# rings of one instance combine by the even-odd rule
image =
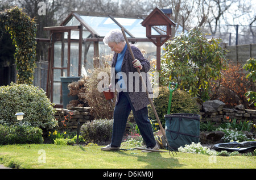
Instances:
[[[226,66],[226,50],[220,43],[220,39],[206,39],[197,28],[174,37],[161,59],[160,83],[177,82],[193,97],[209,100],[210,82],[220,78]]]

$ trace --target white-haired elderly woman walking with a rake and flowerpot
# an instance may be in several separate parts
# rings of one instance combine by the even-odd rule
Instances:
[[[150,62],[143,57],[141,51],[135,47],[135,45],[130,44],[135,57],[133,61],[129,49],[127,48],[125,38],[120,30],[110,31],[103,41],[105,45],[108,45],[112,51],[114,51],[112,60],[112,71],[114,70],[114,72],[112,72],[112,80],[115,79],[115,85],[112,83],[110,86],[116,87],[118,94],[114,108],[112,143],[101,148],[101,150],[119,149],[122,143],[123,133],[125,132],[127,118],[131,110],[133,111],[135,122],[146,142],[147,148],[158,149],[151,123],[148,119],[147,105],[150,102],[148,101],[147,93],[146,91],[142,91],[143,88],[141,86],[139,86],[139,91],[135,90],[135,87],[138,87],[138,84],[136,84],[138,81],[134,81],[134,74],[137,72],[136,68],[139,68],[141,72],[145,74],[150,70]],[[117,76],[117,74],[119,74],[119,76]],[[132,88],[129,88],[129,85],[131,86],[129,81],[134,81]]]

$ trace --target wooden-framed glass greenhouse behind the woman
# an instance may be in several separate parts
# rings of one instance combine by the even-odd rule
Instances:
[[[171,10],[157,10],[164,16],[171,14]],[[113,54],[103,43],[104,36],[112,29],[123,28],[127,39],[143,50],[148,60],[156,58],[156,45],[148,39],[146,27],[142,26],[146,18],[143,15],[127,17],[123,14],[72,11],[60,26],[44,27],[51,35],[47,95],[56,107],[63,107],[60,77],[87,76],[88,70],[100,65],[102,56]],[[166,35],[166,31],[160,26],[153,26],[150,31],[155,36]]]

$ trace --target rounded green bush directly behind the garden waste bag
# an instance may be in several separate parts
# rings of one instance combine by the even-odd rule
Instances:
[[[164,125],[164,115],[167,114],[168,103],[170,97],[170,90],[168,87],[160,86],[159,94],[157,98],[153,99],[153,103],[158,112],[159,119]],[[185,91],[176,89],[172,93],[172,102],[171,102],[171,114],[175,113],[192,113],[196,114],[199,112],[199,106],[197,105],[194,98],[191,97]],[[154,111],[151,106],[148,106],[148,116],[150,119],[156,119]]]

